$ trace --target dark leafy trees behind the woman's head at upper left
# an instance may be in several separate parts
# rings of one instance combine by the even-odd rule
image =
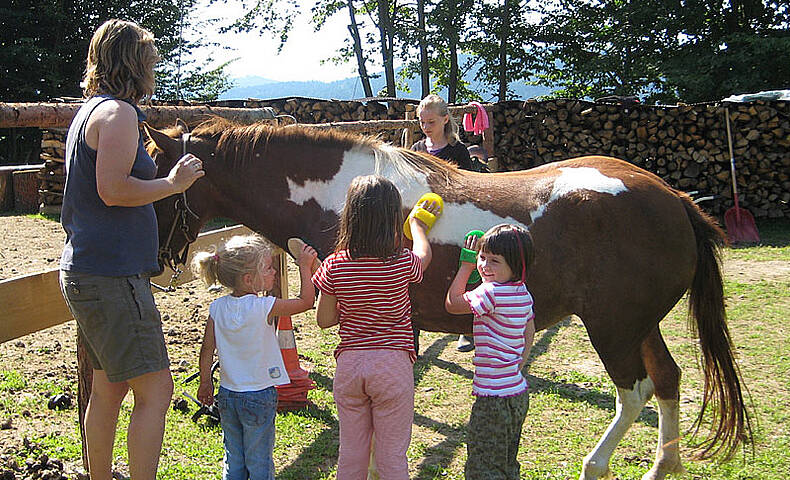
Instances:
[[[229,88],[220,66],[206,69],[188,59],[203,48],[201,38],[187,40],[179,27],[195,0],[15,0],[0,5],[0,101],[41,102],[81,97],[88,43],[96,28],[111,18],[139,23],[157,39],[163,61],[157,67],[157,98],[213,100]],[[202,25],[198,26],[202,28]],[[182,69],[174,77],[179,58]],[[183,88],[174,88],[180,85]],[[38,129],[0,130],[0,162],[32,159],[41,141]]]

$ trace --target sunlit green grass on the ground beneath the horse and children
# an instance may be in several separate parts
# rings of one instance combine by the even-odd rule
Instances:
[[[725,260],[748,262],[790,260],[790,222],[760,224],[764,245],[728,249]],[[296,280],[295,275],[290,275]],[[292,285],[295,288],[295,285]],[[691,460],[693,439],[687,433],[700,406],[702,377],[697,367],[696,339],[686,325],[686,303],[681,301],[662,322],[667,345],[683,370],[681,382],[682,458],[689,474],[683,479],[781,479],[790,472],[790,278],[750,283],[726,281],[730,332],[754,420],[755,449],[740,452],[730,462]],[[277,416],[274,459],[279,479],[334,479],[338,449],[337,411],[332,400],[332,356],[338,342],[335,330],[322,331],[312,314],[294,318],[302,365],[311,370],[316,388],[311,405]],[[408,450],[410,475],[420,480],[463,479],[466,425],[472,405],[471,354],[455,351],[456,335],[423,333],[421,358],[415,372],[415,417]],[[519,451],[522,479],[575,479],[581,461],[606,430],[615,412],[615,389],[578,320],[536,335],[529,382],[530,411]],[[187,386],[176,378],[176,395],[193,395],[197,382]],[[51,412],[46,402],[20,407],[11,395],[76,391],[73,385],[31,382],[13,371],[0,371],[0,410],[21,408],[50,416],[65,425],[55,435],[37,439],[41,451],[71,461],[80,458],[76,411]],[[131,396],[119,418],[119,432],[129,421]],[[195,406],[190,405],[191,412]],[[222,440],[218,427],[198,424],[190,414],[170,410],[159,478],[162,480],[218,479]],[[652,464],[658,416],[649,402],[626,434],[611,462],[620,479],[637,479]],[[32,455],[32,454],[31,454]],[[126,462],[126,439],[116,436],[114,455]],[[784,472],[784,473],[783,473]],[[672,477],[670,477],[672,478]]]

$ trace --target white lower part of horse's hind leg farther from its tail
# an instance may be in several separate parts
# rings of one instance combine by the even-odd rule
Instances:
[[[609,470],[609,459],[614,449],[623,439],[625,432],[639,417],[639,413],[650,397],[653,396],[653,381],[649,377],[634,382],[632,389],[617,387],[616,412],[612,423],[598,441],[592,452],[584,457],[582,473],[579,480],[596,480],[612,478]]]

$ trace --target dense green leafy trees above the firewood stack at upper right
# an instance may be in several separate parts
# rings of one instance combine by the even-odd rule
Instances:
[[[790,9],[761,0],[555,0],[535,36],[555,95],[701,102],[786,88]]]

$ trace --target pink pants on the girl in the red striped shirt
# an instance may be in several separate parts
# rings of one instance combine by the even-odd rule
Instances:
[[[414,421],[414,371],[405,350],[346,350],[333,385],[340,419],[337,480],[365,480],[370,439],[382,480],[406,480]]]

